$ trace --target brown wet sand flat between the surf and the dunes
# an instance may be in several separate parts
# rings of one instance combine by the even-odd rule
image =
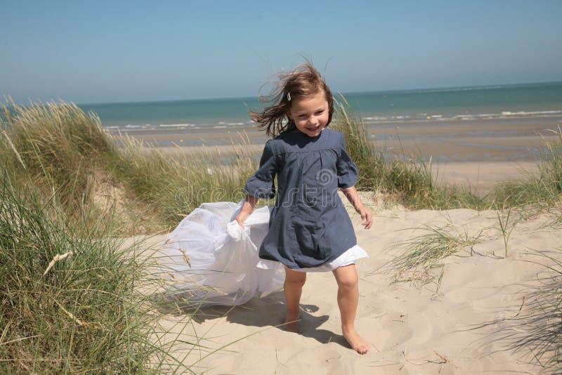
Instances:
[[[554,131],[562,117],[514,119],[512,121],[393,122],[367,124],[367,136],[375,147],[413,157],[447,162],[534,161],[545,141],[556,139]],[[261,145],[268,136],[256,127],[225,129],[162,129],[114,133],[131,136],[156,147]],[[221,150],[226,148],[221,147]]]

